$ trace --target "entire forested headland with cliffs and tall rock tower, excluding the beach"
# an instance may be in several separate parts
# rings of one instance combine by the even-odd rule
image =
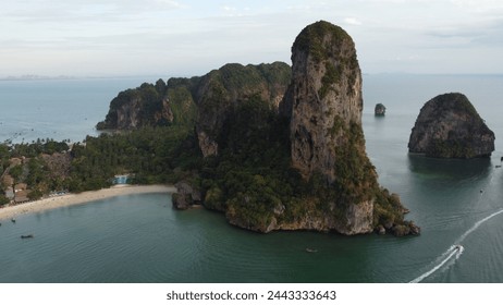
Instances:
[[[317,22],[295,39],[292,61],[226,64],[122,91],[97,125],[114,132],[72,147],[0,146],[2,178],[36,199],[130,174],[132,183],[176,184],[177,208],[204,205],[258,232],[419,234],[365,152],[353,39]]]

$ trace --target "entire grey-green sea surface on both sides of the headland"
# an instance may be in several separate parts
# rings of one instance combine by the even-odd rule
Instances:
[[[0,141],[81,141],[119,90],[140,83],[0,82]],[[491,159],[407,154],[422,105],[450,91],[495,133]],[[259,234],[218,212],[175,211],[167,194],[128,195],[1,220],[0,282],[503,282],[502,97],[503,76],[364,75],[367,154],[420,236]]]

